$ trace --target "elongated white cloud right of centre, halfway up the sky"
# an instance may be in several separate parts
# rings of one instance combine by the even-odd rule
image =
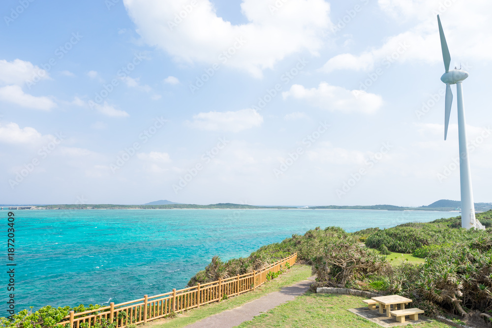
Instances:
[[[347,90],[321,82],[318,88],[306,89],[295,84],[282,92],[283,99],[294,97],[307,100],[313,106],[329,111],[374,113],[383,104],[380,95],[360,90]]]

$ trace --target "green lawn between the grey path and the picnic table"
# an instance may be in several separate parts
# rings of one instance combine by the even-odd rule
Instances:
[[[363,299],[358,296],[307,292],[305,295],[281,304],[238,327],[380,327],[347,311],[347,309],[363,307],[365,305],[362,302]],[[424,326],[415,327],[444,328],[449,326],[433,321],[424,324]]]

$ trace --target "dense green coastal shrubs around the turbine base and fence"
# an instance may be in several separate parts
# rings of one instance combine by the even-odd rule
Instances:
[[[339,227],[317,227],[265,245],[246,258],[222,261],[214,257],[188,286],[252,272],[297,252],[298,263],[309,265],[317,276],[311,286],[313,292],[327,286],[399,294],[413,299],[412,306],[425,310],[428,316],[456,314],[465,321],[475,318],[490,324],[492,210],[477,217],[487,230],[462,229],[461,217],[355,233]],[[318,297],[309,294],[303,298],[316,298],[312,301],[317,302]],[[13,321],[2,318],[0,324],[7,328],[51,328],[71,310],[78,313],[98,307],[46,306],[33,313],[23,310],[12,316]]]

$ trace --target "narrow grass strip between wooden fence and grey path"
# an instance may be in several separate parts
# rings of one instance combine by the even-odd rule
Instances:
[[[219,303],[210,303],[200,306],[199,309],[194,308],[185,311],[183,314],[179,314],[173,319],[155,320],[147,323],[144,327],[148,328],[178,328],[192,324],[196,321],[210,317],[216,313],[220,313],[225,310],[230,310],[241,306],[253,299],[260,298],[266,294],[277,292],[282,287],[290,286],[296,282],[306,280],[311,276],[311,267],[305,265],[294,265],[288,272],[283,273],[278,278],[266,282],[263,286],[256,289],[254,292],[248,292],[239,297],[231,297],[226,300],[222,300]]]

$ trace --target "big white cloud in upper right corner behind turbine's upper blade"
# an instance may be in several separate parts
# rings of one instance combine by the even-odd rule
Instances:
[[[388,36],[383,44],[359,55],[337,55],[322,70],[338,69],[370,71],[377,66],[408,60],[427,64],[442,63],[436,15],[440,14],[444,34],[451,53],[451,67],[467,60],[490,61],[492,52],[492,2],[473,3],[441,0],[379,0],[380,8],[398,22],[417,20],[416,25],[397,35]],[[480,29],[477,29],[480,26]]]

